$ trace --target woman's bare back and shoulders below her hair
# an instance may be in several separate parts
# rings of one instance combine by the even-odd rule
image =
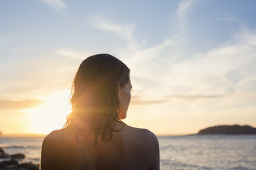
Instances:
[[[110,141],[79,143],[74,132],[54,130],[43,140],[41,170],[48,169],[160,169],[159,144],[147,129],[125,125]]]

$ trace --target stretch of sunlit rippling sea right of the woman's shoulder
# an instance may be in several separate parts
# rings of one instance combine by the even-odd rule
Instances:
[[[256,169],[256,135],[159,136],[169,169]]]

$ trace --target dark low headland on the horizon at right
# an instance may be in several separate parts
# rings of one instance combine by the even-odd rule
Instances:
[[[250,125],[217,125],[200,130],[198,134],[256,134]]]

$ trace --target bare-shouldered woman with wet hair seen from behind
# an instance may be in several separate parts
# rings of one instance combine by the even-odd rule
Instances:
[[[130,69],[118,58],[83,60],[72,84],[72,112],[61,130],[43,139],[41,170],[160,169],[158,138],[126,125]]]

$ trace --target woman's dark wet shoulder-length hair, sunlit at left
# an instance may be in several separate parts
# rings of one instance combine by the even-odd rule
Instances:
[[[102,140],[110,140],[114,126],[124,122],[118,117],[120,101],[118,89],[129,82],[130,69],[118,58],[107,53],[89,56],[80,64],[74,81],[70,103],[72,112],[67,115],[63,129],[73,129],[74,118],[87,122],[89,130],[96,136],[102,134]],[[105,136],[109,138],[105,139]],[[97,137],[95,138],[97,143]]]

